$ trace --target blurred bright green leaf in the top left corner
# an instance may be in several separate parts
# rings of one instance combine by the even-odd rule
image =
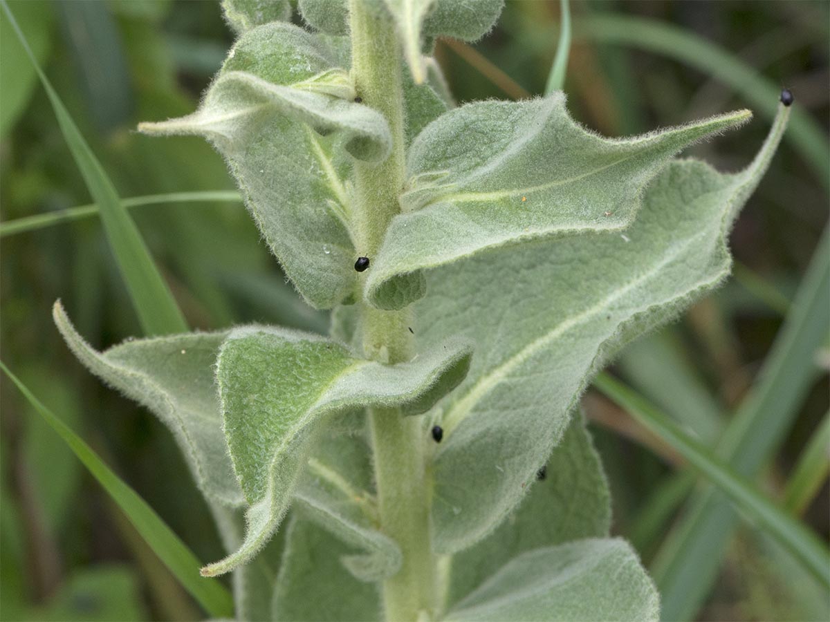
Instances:
[[[32,53],[41,64],[46,61],[55,23],[50,2],[17,2],[15,12]],[[26,109],[37,85],[37,73],[14,36],[11,23],[0,15],[0,138],[4,138]]]

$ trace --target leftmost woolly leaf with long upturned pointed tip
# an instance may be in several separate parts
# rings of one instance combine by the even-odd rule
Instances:
[[[227,331],[128,340],[96,352],[76,332],[60,303],[53,314],[66,343],[90,372],[168,426],[205,496],[242,505],[222,435],[212,372]]]

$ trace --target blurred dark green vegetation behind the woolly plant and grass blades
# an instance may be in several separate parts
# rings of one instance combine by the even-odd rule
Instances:
[[[121,197],[232,190],[198,138],[149,138],[140,120],[193,110],[232,36],[217,2],[8,2]],[[609,136],[717,112],[752,124],[691,154],[718,168],[749,163],[788,86],[798,118],[732,236],[735,278],[616,371],[703,440],[717,439],[769,356],[828,221],[828,2],[574,2],[569,108]],[[507,2],[475,46],[436,50],[458,101],[539,95],[559,32],[559,2]],[[45,92],[0,17],[0,220],[90,202]],[[168,202],[131,210],[194,328],[281,323],[325,330],[305,308],[238,202]],[[212,520],[172,438],[152,415],[101,386],[51,323],[62,299],[95,347],[140,335],[97,217],[4,234],[0,357],[155,508],[203,561],[222,555]],[[826,250],[825,250],[826,252]],[[784,498],[794,465],[828,415],[828,338],[791,400],[791,420],[756,481]],[[806,376],[805,376],[806,375]],[[586,409],[614,497],[614,531],[658,575],[701,485],[658,439],[589,393]],[[0,618],[198,620],[203,613],[81,464],[2,379]],[[751,439],[750,439],[751,441]],[[748,442],[750,442],[748,441]],[[759,440],[759,443],[762,441]],[[794,508],[828,537],[827,447],[821,485]],[[666,544],[669,542],[670,544]],[[689,561],[694,564],[695,561]],[[828,620],[828,595],[764,534],[740,523],[716,581],[686,615],[701,620]],[[661,570],[662,569],[662,570]],[[694,575],[695,568],[691,571]],[[702,573],[705,574],[705,573]],[[666,575],[667,576],[667,575]],[[658,585],[661,579],[657,578]],[[668,581],[668,579],[666,579]],[[704,585],[706,584],[706,585]]]

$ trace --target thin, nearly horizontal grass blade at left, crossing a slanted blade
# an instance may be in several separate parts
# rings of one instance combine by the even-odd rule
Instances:
[[[121,200],[123,207],[146,207],[163,203],[225,203],[241,202],[242,196],[235,190],[214,190],[203,192],[167,192],[149,194],[144,197],[129,197]],[[24,216],[13,221],[0,222],[0,237],[16,236],[19,233],[37,231],[64,222],[78,221],[100,212],[97,203],[69,207],[65,210],[47,211],[43,214]]]

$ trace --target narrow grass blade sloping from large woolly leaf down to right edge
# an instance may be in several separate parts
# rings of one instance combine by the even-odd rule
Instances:
[[[735,505],[786,547],[823,586],[830,588],[830,552],[813,532],[774,506],[730,466],[715,458],[706,445],[686,435],[669,417],[627,386],[604,373],[593,384],[639,423],[676,449],[726,493]]]

